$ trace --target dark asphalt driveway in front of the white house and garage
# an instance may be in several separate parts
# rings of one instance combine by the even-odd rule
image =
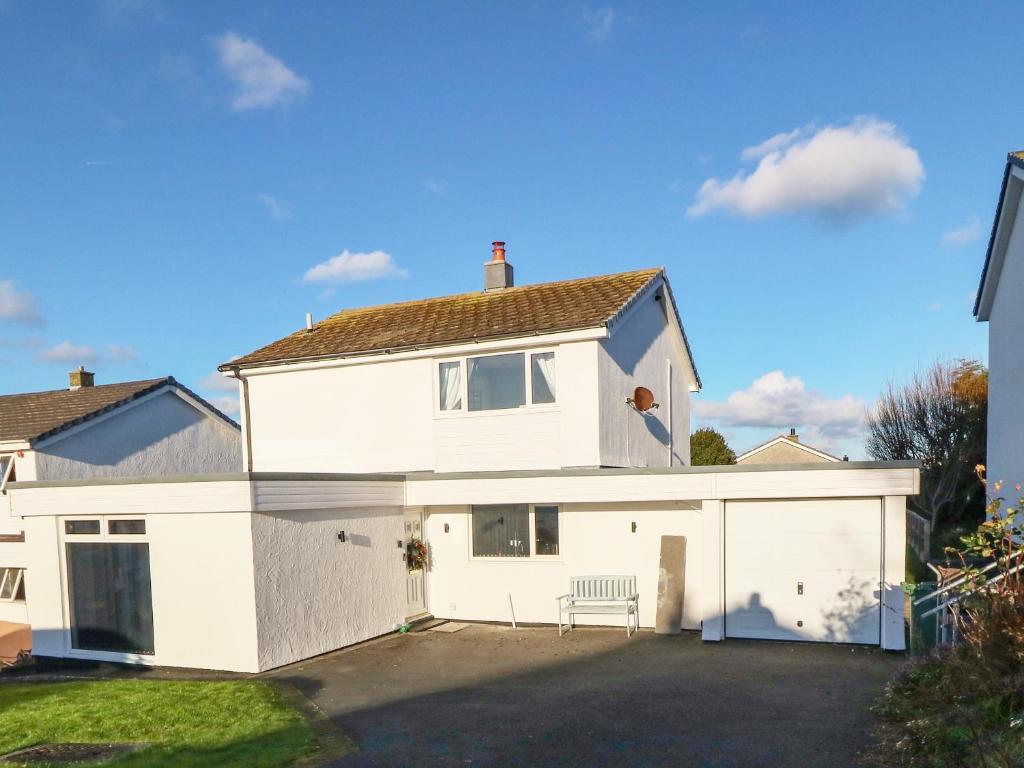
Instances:
[[[622,630],[470,626],[279,670],[358,766],[857,765],[901,657],[878,649]]]

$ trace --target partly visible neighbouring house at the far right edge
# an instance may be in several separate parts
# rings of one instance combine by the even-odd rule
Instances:
[[[988,479],[1024,482],[1024,152],[1007,156],[974,315],[988,323]]]

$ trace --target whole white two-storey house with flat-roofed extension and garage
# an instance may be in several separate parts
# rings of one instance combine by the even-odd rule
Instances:
[[[255,672],[425,614],[554,625],[589,574],[635,577],[641,627],[685,580],[670,631],[903,648],[916,466],[688,466],[700,380],[663,269],[516,287],[496,243],[480,292],[221,371],[244,472],[10,484],[36,653]]]

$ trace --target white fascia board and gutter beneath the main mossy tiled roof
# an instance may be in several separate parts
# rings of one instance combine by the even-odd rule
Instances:
[[[351,354],[338,354],[326,356],[322,359],[294,360],[282,362],[257,362],[250,366],[240,366],[239,376],[261,376],[263,374],[275,374],[282,371],[312,371],[325,368],[341,368],[346,366],[366,366],[375,362],[389,362],[391,360],[411,360],[422,357],[458,357],[460,355],[472,354],[475,352],[500,351],[505,349],[528,349],[538,346],[551,346],[554,344],[565,344],[574,341],[594,341],[604,339],[608,336],[608,329],[604,326],[597,328],[584,328],[575,331],[562,331],[553,334],[536,334],[534,336],[509,336],[502,339],[486,339],[481,341],[459,342],[457,344],[437,344],[417,347],[415,349],[403,349],[395,352],[388,350],[375,350],[370,352],[353,352]],[[231,370],[231,364],[221,367],[223,370]]]

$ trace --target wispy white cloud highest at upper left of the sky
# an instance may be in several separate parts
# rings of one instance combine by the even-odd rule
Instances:
[[[225,32],[216,40],[220,63],[239,86],[231,105],[242,112],[280,106],[305,96],[309,81],[292,72],[258,43]]]

